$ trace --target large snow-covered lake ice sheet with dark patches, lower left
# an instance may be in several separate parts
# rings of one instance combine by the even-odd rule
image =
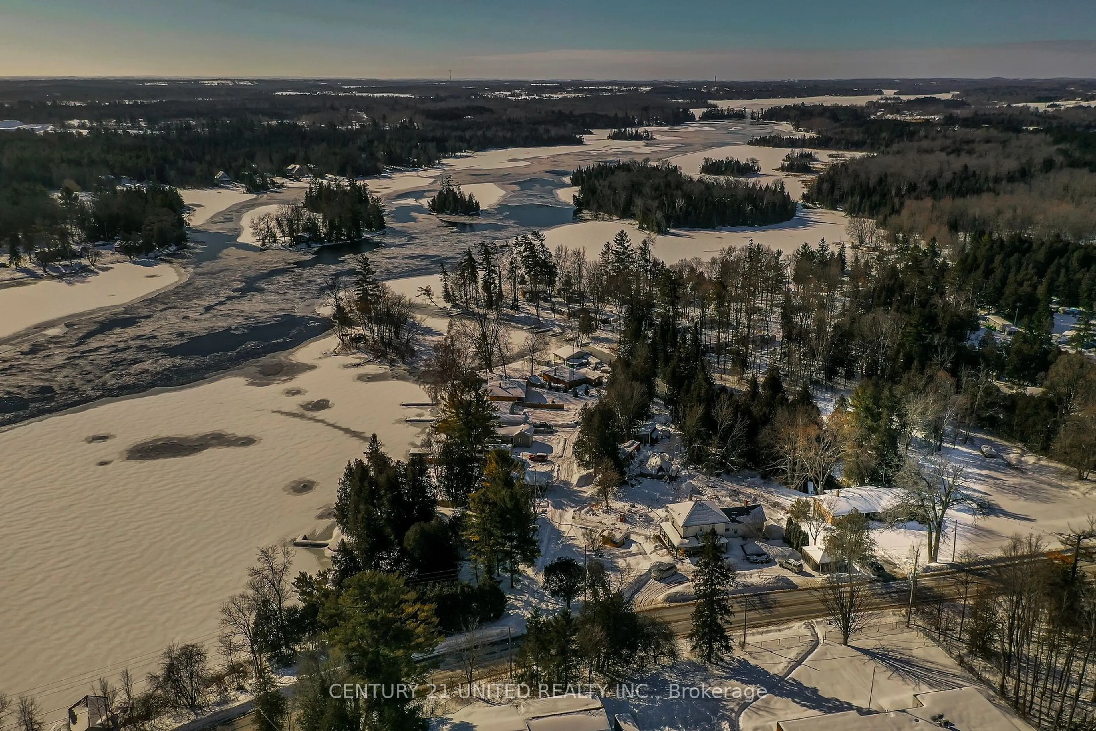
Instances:
[[[330,524],[370,434],[407,453],[422,411],[400,402],[422,390],[334,343],[0,431],[0,585],[20,597],[0,647],[26,660],[0,664],[3,692],[59,709],[100,674],[144,677],[172,640],[212,640],[256,547]]]

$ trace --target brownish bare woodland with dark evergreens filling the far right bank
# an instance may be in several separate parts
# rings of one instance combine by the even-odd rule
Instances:
[[[806,199],[934,240],[977,298],[1041,328],[1052,300],[1096,304],[1096,111],[967,108],[936,121],[846,107],[770,110],[874,155],[830,165]],[[872,128],[901,134],[875,134]],[[813,140],[813,145],[818,141]],[[812,146],[813,146],[812,145]]]

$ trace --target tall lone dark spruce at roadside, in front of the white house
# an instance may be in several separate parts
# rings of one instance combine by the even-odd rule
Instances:
[[[733,574],[723,560],[723,548],[715,530],[704,537],[704,548],[696,564],[693,586],[696,605],[693,608],[693,629],[688,639],[693,652],[707,663],[720,662],[731,654],[733,643],[727,623],[734,617],[727,594]]]

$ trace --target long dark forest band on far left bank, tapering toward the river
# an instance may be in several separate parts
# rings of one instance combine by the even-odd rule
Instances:
[[[167,124],[149,134],[92,129],[87,135],[8,133],[0,138],[0,180],[48,189],[72,181],[91,189],[103,175],[176,186],[212,185],[218,171],[282,175],[289,164],[320,174],[375,175],[386,167],[424,167],[465,150],[578,145],[582,127],[514,119],[418,125],[262,123],[252,118]]]

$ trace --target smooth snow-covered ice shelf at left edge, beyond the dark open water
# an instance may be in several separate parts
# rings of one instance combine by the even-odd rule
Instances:
[[[117,307],[170,287],[183,278],[172,264],[139,260],[101,264],[64,277],[24,279],[0,287],[0,338],[43,322]]]

